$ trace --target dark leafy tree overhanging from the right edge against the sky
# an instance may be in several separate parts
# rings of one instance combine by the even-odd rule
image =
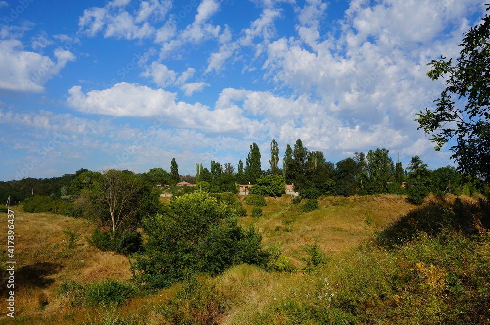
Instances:
[[[490,4],[486,4],[487,10]],[[446,89],[436,99],[433,110],[425,109],[417,116],[419,129],[432,134],[436,151],[456,140],[450,150],[458,169],[479,176],[490,183],[490,16],[466,32],[460,57],[453,64],[441,56],[428,65],[429,78],[446,79]],[[455,100],[462,97],[465,100]],[[464,106],[463,106],[464,105]]]

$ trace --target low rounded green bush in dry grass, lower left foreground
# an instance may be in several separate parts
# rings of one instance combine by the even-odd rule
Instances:
[[[86,290],[86,300],[90,304],[121,305],[136,296],[138,291],[130,284],[113,279],[94,281]]]

